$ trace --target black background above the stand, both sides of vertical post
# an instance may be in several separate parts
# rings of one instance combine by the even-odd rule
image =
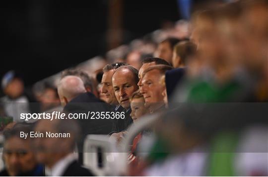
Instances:
[[[0,77],[26,86],[107,51],[108,0],[1,1]],[[179,19],[176,0],[123,0],[123,42]]]

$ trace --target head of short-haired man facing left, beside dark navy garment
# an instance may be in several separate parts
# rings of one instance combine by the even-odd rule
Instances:
[[[160,84],[160,79],[165,75],[165,72],[171,70],[172,67],[168,65],[156,65],[148,67],[142,73],[141,89],[145,105],[150,112],[157,112],[165,107],[164,96],[162,93],[165,87]]]

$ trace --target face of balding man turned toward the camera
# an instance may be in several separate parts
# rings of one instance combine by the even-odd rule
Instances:
[[[138,89],[133,73],[129,69],[121,69],[113,75],[113,87],[118,102],[124,108],[130,107],[130,96]]]

